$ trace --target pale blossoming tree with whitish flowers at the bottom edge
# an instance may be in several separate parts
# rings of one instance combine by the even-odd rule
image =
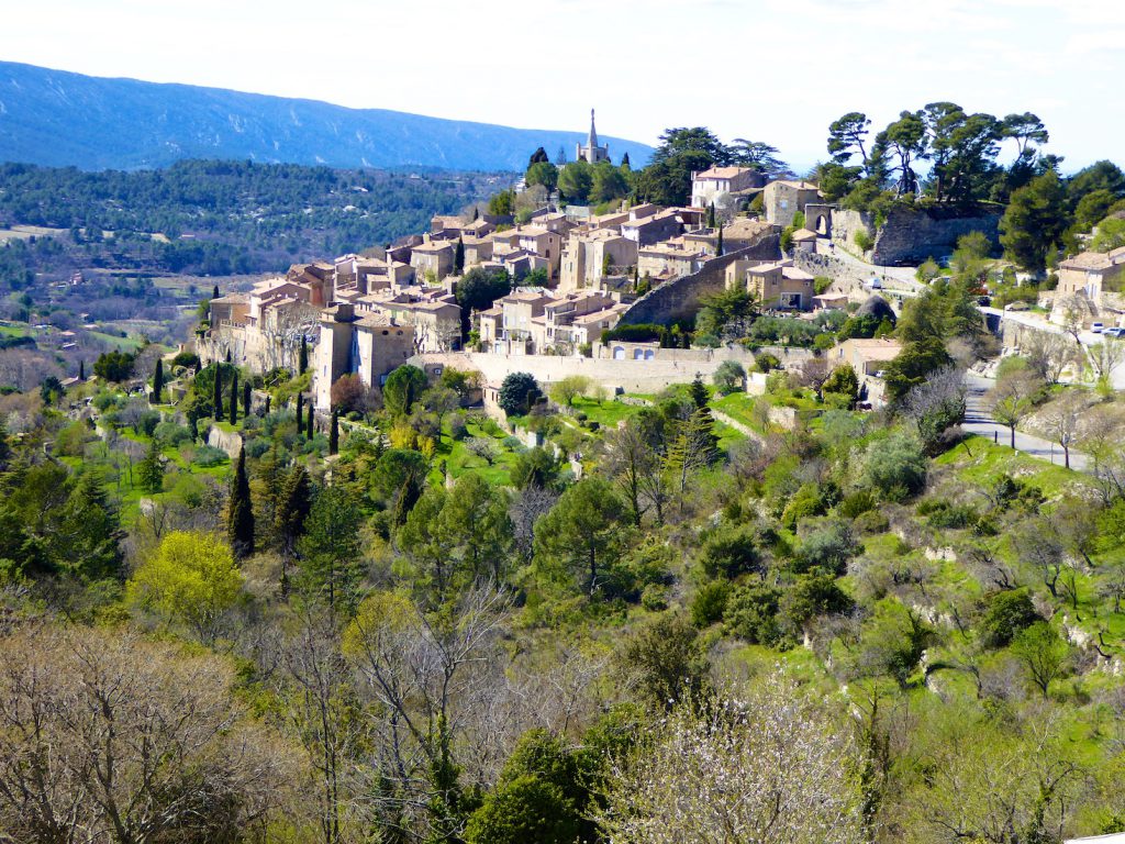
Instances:
[[[776,677],[746,700],[684,704],[613,769],[598,818],[624,844],[860,844],[847,730]]]

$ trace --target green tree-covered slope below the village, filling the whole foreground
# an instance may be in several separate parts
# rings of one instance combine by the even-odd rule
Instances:
[[[966,437],[973,296],[881,326],[880,413],[847,365],[764,352],[758,396],[737,365],[621,397],[514,372],[502,417],[454,367],[344,376],[315,417],[309,372],[152,347],[0,396],[0,829],[1125,829],[1122,411],[1028,348],[997,402],[1069,424],[1090,470]]]

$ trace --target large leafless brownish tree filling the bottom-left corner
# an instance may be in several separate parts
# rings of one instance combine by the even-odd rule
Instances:
[[[14,631],[0,641],[0,828],[260,839],[296,771],[248,731],[233,682],[219,659],[116,629]]]

